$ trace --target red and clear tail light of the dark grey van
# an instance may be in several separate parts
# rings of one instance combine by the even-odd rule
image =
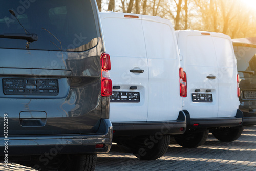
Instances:
[[[111,69],[110,55],[101,55],[101,95],[108,97],[112,95],[112,81],[109,70]]]

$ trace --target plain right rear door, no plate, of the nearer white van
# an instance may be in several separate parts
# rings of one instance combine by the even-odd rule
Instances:
[[[179,95],[179,57],[171,24],[143,20],[148,58],[147,121],[176,120],[182,110]]]

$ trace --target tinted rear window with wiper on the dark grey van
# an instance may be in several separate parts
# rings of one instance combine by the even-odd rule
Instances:
[[[97,45],[97,31],[90,1],[2,1],[0,35],[25,31],[11,15],[13,10],[28,33],[38,35],[29,49],[84,51]],[[27,40],[0,38],[0,48],[26,49]]]

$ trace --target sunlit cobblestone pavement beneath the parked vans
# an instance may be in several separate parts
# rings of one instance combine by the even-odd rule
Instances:
[[[0,170],[33,170],[11,163]],[[220,142],[211,134],[198,148],[170,144],[166,154],[157,160],[139,161],[133,154],[113,145],[110,153],[98,154],[96,171],[100,170],[256,170],[256,126],[245,127],[233,142]],[[33,170],[35,171],[35,170]]]

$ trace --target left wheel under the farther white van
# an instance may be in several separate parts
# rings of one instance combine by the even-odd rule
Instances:
[[[209,130],[205,129],[198,132],[187,132],[181,135],[175,135],[175,141],[185,148],[196,148],[205,143],[209,134]]]

